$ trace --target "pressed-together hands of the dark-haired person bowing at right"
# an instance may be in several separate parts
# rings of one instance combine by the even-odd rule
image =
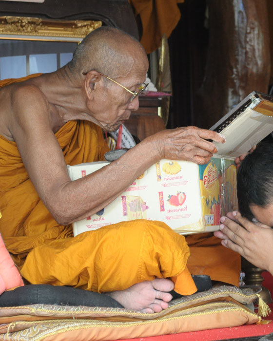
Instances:
[[[223,239],[221,244],[273,275],[273,230],[264,224],[250,222],[237,211],[229,212],[220,221],[220,230],[214,235]]]

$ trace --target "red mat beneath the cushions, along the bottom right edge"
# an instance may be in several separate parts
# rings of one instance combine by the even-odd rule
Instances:
[[[265,279],[263,286],[270,290],[271,296],[273,297],[273,277],[268,272],[263,272],[262,275]],[[269,306],[272,312],[268,317],[266,317],[266,320],[273,320],[273,303],[269,304]],[[215,341],[263,336],[270,333],[273,333],[273,321],[269,324],[242,325],[232,328],[210,329],[198,332],[153,336],[148,338],[126,339],[125,341]]]

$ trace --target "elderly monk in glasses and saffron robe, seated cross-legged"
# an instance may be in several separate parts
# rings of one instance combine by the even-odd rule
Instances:
[[[216,152],[208,140],[224,142],[196,127],[161,131],[71,181],[66,165],[102,160],[102,130],[116,131],[137,110],[147,71],[137,40],[102,27],[56,72],[2,83],[0,232],[30,283],[110,291],[124,307],[149,313],[168,307],[174,286],[181,294],[196,291],[185,238],[165,224],[139,220],[72,238],[73,222],[111,203],[160,159],[205,164]],[[217,238],[193,239],[191,273],[238,284],[236,253],[223,252]]]

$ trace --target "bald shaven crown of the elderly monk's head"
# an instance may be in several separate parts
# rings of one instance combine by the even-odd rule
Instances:
[[[147,56],[137,39],[113,27],[100,27],[87,35],[68,63],[75,76],[96,70],[109,77],[127,76],[134,63],[147,63]]]

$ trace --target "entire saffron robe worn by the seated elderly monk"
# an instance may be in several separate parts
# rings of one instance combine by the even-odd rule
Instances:
[[[2,84],[3,82],[0,82],[0,86]],[[90,122],[69,121],[61,127],[55,135],[63,151],[65,162],[69,165],[102,160],[104,153],[108,150],[108,147],[104,142],[101,129]],[[133,266],[132,263],[130,263],[130,265],[127,263],[127,265],[125,265],[127,270],[126,268],[123,267],[122,269],[121,267],[120,272],[117,272],[117,279],[118,276],[121,276],[122,274],[124,278],[122,283],[120,281],[120,286],[115,287],[115,290],[120,290],[121,288],[134,284],[132,283],[132,279],[134,282],[136,277],[128,274],[135,271],[135,276],[138,276],[137,281],[138,279],[141,281],[145,279],[151,280],[155,276],[175,276],[173,280],[176,288],[179,288],[177,290],[178,292],[180,291],[180,293],[185,295],[195,292],[195,284],[186,266],[189,251],[185,243],[185,238],[183,236],[176,235],[176,233],[171,231],[171,229],[165,224],[163,224],[162,227],[162,223],[157,222],[128,222],[129,225],[122,222],[117,224],[117,226],[100,228],[99,230],[94,231],[93,234],[86,232],[78,235],[77,237],[73,237],[72,226],[59,225],[39,199],[38,193],[32,185],[27,171],[24,168],[16,143],[8,141],[2,136],[0,136],[0,178],[0,210],[2,213],[2,218],[0,219],[0,233],[2,234],[7,249],[11,253],[15,263],[20,266],[20,268],[22,267],[26,256],[29,254],[28,261],[22,269],[26,277],[29,276],[29,274],[32,274],[31,276],[34,277],[36,276],[36,269],[32,262],[35,258],[39,258],[42,262],[40,264],[42,269],[43,262],[45,262],[47,258],[52,260],[55,258],[57,249],[65,255],[65,262],[59,262],[58,266],[54,269],[55,273],[51,273],[52,277],[49,276],[50,278],[47,278],[45,281],[51,281],[52,284],[57,285],[62,283],[65,285],[91,288],[92,290],[95,288],[95,290],[98,290],[99,292],[107,291],[109,290],[107,285],[109,285],[111,281],[115,284],[118,283],[119,280],[115,282],[116,280],[113,278],[114,274],[112,273],[111,280],[109,279],[108,282],[106,281],[107,284],[105,284],[106,282],[99,283],[99,281],[103,282],[103,278],[99,277],[99,271],[102,271],[100,269],[103,269],[103,273],[107,273],[107,271],[111,273],[112,267],[114,267],[117,271],[117,267],[120,264],[118,258],[113,257],[113,249],[110,249],[108,254],[104,254],[104,249],[103,262],[101,262],[101,257],[95,257],[95,264],[88,264],[89,267],[87,268],[82,268],[78,265],[78,263],[81,262],[84,264],[86,253],[88,254],[88,249],[96,249],[98,245],[102,245],[101,243],[98,243],[100,239],[104,240],[108,238],[106,237],[105,231],[109,233],[109,236],[112,234],[111,238],[114,238],[113,236],[115,236],[116,229],[125,231],[127,228],[126,232],[130,231],[130,234],[127,236],[130,240],[130,244],[126,247],[126,250],[122,249],[124,247],[123,244],[119,244],[117,246],[117,249],[119,247],[122,252],[125,252],[123,254],[123,258],[130,258],[132,250],[134,250],[134,257],[137,257],[137,249],[134,248],[134,233],[136,233],[135,227],[137,227],[139,231],[141,231],[141,233],[139,233],[139,238],[142,236],[141,242],[139,239],[138,245],[143,247],[145,246],[144,253],[148,258],[142,260],[142,263],[139,262],[141,266],[136,264],[135,267],[131,267]],[[158,226],[158,229],[156,226]],[[159,227],[166,233],[162,234]],[[149,241],[146,241],[143,236],[147,234],[147,231],[152,233],[150,232],[150,228],[151,231],[153,231],[153,236],[150,234],[148,240],[151,243],[149,244]],[[158,234],[166,236],[165,243],[163,243],[162,238],[158,238]],[[124,232],[123,235],[125,235]],[[92,236],[96,237],[92,238]],[[110,244],[111,238],[108,238],[108,242]],[[214,244],[211,246],[212,250],[215,250],[211,257],[209,253],[206,254],[206,250],[208,248],[202,247],[202,245],[210,245],[207,238],[203,241],[201,240],[201,242],[196,241],[195,236],[189,236],[187,239],[188,238],[194,239],[194,243],[196,244],[194,249],[194,261],[189,263],[190,271],[191,267],[194,269],[193,272],[191,271],[193,274],[197,271],[198,274],[203,273],[210,275],[214,280],[234,285],[238,284],[240,265],[238,262],[239,256],[237,254],[223,246],[220,246],[220,241],[217,240],[217,243],[214,241]],[[199,238],[200,237],[197,237],[197,239]],[[120,240],[121,239],[117,238],[117,242]],[[75,257],[74,246],[76,244],[78,244],[77,250],[79,251],[79,257]],[[168,247],[170,247],[170,250],[173,252],[173,256],[170,255]],[[160,249],[160,252],[153,252],[153,248],[155,250]],[[101,249],[103,250],[103,248]],[[118,254],[117,249],[115,249],[115,255]],[[30,252],[31,250],[33,251]],[[201,250],[200,257],[198,257],[198,250]],[[82,253],[81,251],[84,252]],[[142,255],[143,251],[144,250],[139,249],[139,255]],[[92,262],[93,256],[90,256]],[[150,259],[151,256],[153,256],[152,259]],[[108,262],[105,261],[105,259],[107,260],[107,257],[109,260]],[[169,261],[167,262],[166,259]],[[223,259],[224,262],[222,263]],[[230,261],[231,265],[227,264],[227,259]],[[189,258],[189,261],[190,260],[191,257]],[[218,266],[219,263],[220,267]],[[215,264],[218,265],[214,269]],[[71,283],[67,283],[66,279],[62,282],[62,278],[59,279],[58,277],[59,274],[63,274],[63,277],[66,275],[69,277],[74,271],[73,270],[70,273],[70,268],[75,269],[76,271],[73,273],[74,277],[71,280]],[[104,268],[106,269],[106,272]],[[138,273],[139,268],[141,268],[143,272],[141,276]],[[154,272],[155,269],[157,271],[156,273]],[[92,281],[94,282],[90,282],[89,279],[87,279],[87,273],[89,274],[88,278],[92,278]],[[228,276],[224,275],[226,273],[228,273]],[[35,281],[35,279],[30,277],[29,279],[31,281]],[[183,292],[181,292],[181,290]]]

